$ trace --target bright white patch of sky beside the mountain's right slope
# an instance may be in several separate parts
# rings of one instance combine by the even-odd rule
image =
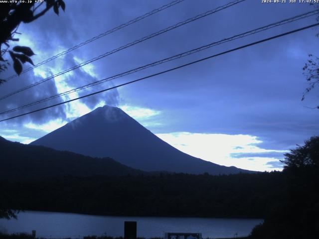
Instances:
[[[173,132],[156,134],[182,152],[213,163],[236,166],[255,171],[281,170],[267,164],[278,161],[273,157],[231,157],[232,153],[285,153],[286,150],[267,150],[258,147],[262,141],[252,135],[228,135],[210,133]]]

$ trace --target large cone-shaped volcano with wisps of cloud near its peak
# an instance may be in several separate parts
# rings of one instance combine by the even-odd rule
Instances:
[[[201,174],[250,172],[195,158],[161,140],[121,109],[104,106],[33,141],[57,150],[111,157],[145,171]]]

